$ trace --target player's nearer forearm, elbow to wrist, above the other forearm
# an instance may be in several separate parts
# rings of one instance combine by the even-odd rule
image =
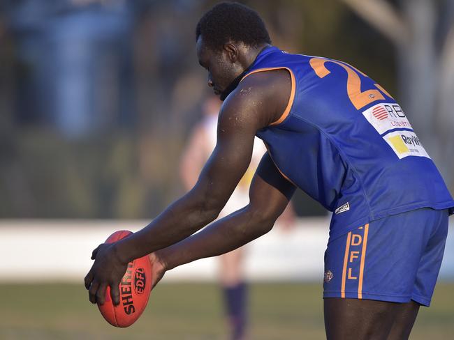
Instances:
[[[175,201],[145,228],[116,243],[124,262],[173,245],[216,219],[220,208],[194,198],[191,192]]]

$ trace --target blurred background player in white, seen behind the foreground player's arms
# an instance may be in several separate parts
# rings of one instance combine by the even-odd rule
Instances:
[[[211,96],[203,103],[203,118],[194,127],[189,142],[182,155],[180,174],[186,190],[196,184],[203,165],[210,157],[217,140],[217,118],[222,102],[217,96]],[[218,218],[247,206],[249,203],[249,185],[258,167],[258,163],[267,152],[263,142],[256,137],[251,164],[226,206]],[[279,222],[285,227],[293,224],[295,214],[291,205],[288,206]],[[278,222],[278,223],[279,223]],[[243,272],[244,247],[219,256],[219,279],[224,295],[226,317],[230,327],[231,339],[244,339],[247,328],[247,282]]]

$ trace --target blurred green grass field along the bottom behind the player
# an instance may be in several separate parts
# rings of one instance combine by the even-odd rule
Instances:
[[[321,286],[251,286],[249,339],[324,339]],[[0,339],[228,339],[214,284],[161,284],[126,329],[108,325],[80,285],[0,285]],[[411,339],[453,339],[454,284],[439,284]]]

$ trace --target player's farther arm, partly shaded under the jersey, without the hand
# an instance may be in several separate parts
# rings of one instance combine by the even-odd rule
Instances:
[[[249,204],[211,224],[200,233],[157,252],[166,270],[210,256],[225,254],[272,229],[295,192],[265,154],[249,190]]]

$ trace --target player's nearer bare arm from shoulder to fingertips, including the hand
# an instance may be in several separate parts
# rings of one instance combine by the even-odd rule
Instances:
[[[112,300],[117,304],[117,285],[127,263],[174,245],[216,219],[247,170],[257,130],[276,121],[284,111],[290,84],[285,70],[260,72],[244,79],[230,93],[219,114],[217,145],[193,189],[144,229],[113,245],[95,249],[92,258],[96,260],[85,277],[91,302],[103,303],[105,289],[110,286]],[[249,209],[246,216],[257,211]],[[258,237],[257,233],[254,235]]]

